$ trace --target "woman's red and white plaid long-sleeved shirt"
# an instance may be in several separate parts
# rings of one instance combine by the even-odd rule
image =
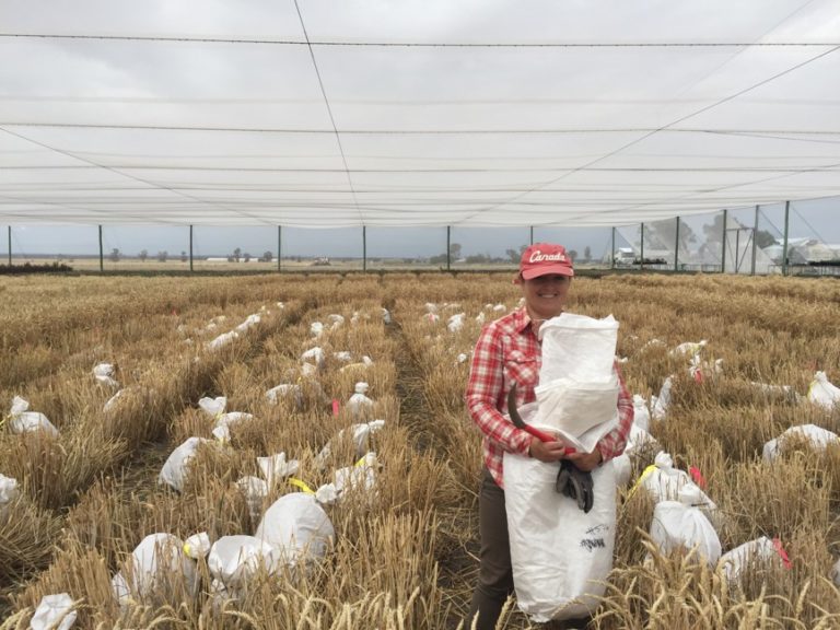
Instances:
[[[534,438],[517,429],[502,416],[508,410],[508,393],[516,384],[516,405],[536,398],[534,388],[539,382],[542,364],[539,340],[525,307],[516,308],[487,324],[476,342],[465,400],[472,420],[485,434],[485,464],[493,479],[502,483],[502,454],[504,451],[527,455]],[[618,395],[618,427],[598,442],[604,462],[625,451],[627,436],[633,423],[633,398],[616,365],[620,384]]]

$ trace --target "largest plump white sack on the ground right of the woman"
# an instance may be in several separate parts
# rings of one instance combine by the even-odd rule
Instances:
[[[721,541],[711,521],[695,506],[698,492],[702,493],[702,490],[689,482],[680,490],[678,501],[656,503],[651,539],[664,555],[679,547],[697,548],[699,557],[714,567],[721,558]]]

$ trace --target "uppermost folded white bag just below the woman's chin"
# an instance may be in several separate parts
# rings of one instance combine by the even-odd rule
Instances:
[[[563,313],[545,322],[539,337],[542,340],[540,383],[556,378],[597,382],[612,375],[618,322],[611,315],[595,319]]]

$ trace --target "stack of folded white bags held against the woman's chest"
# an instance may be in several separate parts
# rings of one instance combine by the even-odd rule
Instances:
[[[618,424],[614,369],[618,322],[563,313],[539,329],[539,371],[534,424],[555,429],[572,447],[591,453]]]

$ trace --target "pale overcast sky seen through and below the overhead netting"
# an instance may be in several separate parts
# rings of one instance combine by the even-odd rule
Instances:
[[[840,0],[298,7],[0,0],[12,249],[598,252],[784,199],[840,242]]]

